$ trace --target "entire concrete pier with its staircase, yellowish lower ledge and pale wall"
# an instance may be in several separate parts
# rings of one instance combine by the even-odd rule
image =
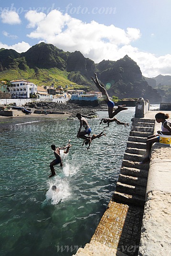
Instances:
[[[150,165],[139,163],[147,136],[161,129],[158,112],[132,119],[116,191],[90,243],[75,256],[171,255],[171,147],[157,142]]]

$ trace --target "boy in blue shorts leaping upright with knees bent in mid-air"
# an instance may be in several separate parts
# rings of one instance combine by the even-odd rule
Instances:
[[[77,133],[77,138],[84,139],[90,145],[90,143],[91,143],[91,136],[90,136],[91,128],[90,128],[87,120],[85,119],[85,117],[83,117],[80,113],[77,113],[76,117],[80,121],[80,127],[79,127],[79,130]],[[82,129],[84,129],[84,130],[82,131]],[[86,135],[88,135],[88,136],[86,136]]]

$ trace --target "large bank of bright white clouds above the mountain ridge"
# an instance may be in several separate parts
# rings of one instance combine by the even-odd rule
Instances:
[[[43,12],[29,11],[25,14],[25,18],[28,20],[28,27],[32,28],[32,32],[27,36],[39,39],[40,42],[53,44],[64,51],[79,50],[95,63],[102,60],[117,61],[127,54],[137,62],[142,74],[147,77],[159,74],[171,75],[170,54],[156,57],[131,45],[132,42],[135,45],[135,41],[141,37],[138,28],[128,27],[124,30],[114,25],[98,24],[95,21],[84,23],[57,10],[47,15]],[[13,46],[1,47],[22,52],[28,50],[30,45],[21,42]]]

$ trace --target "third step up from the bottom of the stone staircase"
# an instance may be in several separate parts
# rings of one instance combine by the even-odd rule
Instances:
[[[120,173],[126,176],[148,178],[149,171],[143,169],[140,170],[136,168],[122,167],[120,168]]]

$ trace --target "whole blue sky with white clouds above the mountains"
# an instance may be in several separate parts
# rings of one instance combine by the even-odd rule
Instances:
[[[95,63],[128,55],[146,77],[171,75],[171,0],[0,0],[0,48],[41,42]]]

